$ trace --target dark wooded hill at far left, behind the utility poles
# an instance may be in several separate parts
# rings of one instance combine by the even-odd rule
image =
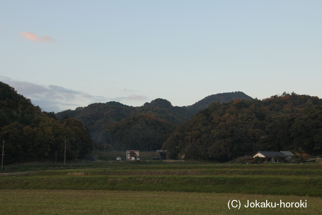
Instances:
[[[57,160],[84,156],[92,150],[92,140],[82,122],[74,118],[56,119],[54,113],[42,112],[30,99],[0,82],[0,139],[5,140],[4,163]]]

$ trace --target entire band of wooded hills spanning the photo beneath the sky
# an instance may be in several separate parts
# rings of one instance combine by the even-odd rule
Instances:
[[[195,109],[214,98],[217,101],[207,108]],[[220,162],[257,151],[322,154],[322,100],[317,97],[283,93],[258,100],[235,92],[212,95],[196,104],[177,107],[155,99],[131,107],[107,102],[55,114],[42,112],[0,82],[4,160],[54,159],[56,152],[62,159],[65,139],[67,159],[90,153],[93,140],[96,147],[107,144],[109,150],[162,148],[173,159]]]

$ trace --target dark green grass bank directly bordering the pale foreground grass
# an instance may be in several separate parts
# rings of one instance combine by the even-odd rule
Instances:
[[[281,176],[2,177],[0,189],[90,189],[322,197],[322,178]]]

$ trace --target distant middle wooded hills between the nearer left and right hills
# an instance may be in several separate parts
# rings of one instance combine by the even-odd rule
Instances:
[[[213,98],[229,101],[235,97],[241,97],[242,94],[241,92],[227,93]],[[243,96],[246,95],[243,94]],[[211,98],[208,98],[207,102],[210,102]],[[197,112],[198,110],[194,107],[173,106],[171,102],[158,98],[140,107],[131,107],[119,102],[95,103],[75,110],[65,110],[56,113],[56,116],[60,119],[75,117],[81,120],[90,130],[96,143],[106,142],[110,148],[121,150],[129,147],[150,150],[152,145],[154,150],[157,150],[177,125],[188,121]],[[148,115],[153,117],[148,117]],[[149,120],[151,121],[148,122]],[[131,121],[130,125],[125,126],[129,121]],[[137,129],[139,127],[142,129]],[[132,136],[129,136],[129,129]],[[155,137],[153,141],[152,136]]]

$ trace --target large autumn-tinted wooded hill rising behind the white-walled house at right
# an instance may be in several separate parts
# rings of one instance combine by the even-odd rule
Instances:
[[[228,161],[256,151],[322,154],[322,100],[283,93],[264,100],[214,102],[168,138],[172,158]]]

